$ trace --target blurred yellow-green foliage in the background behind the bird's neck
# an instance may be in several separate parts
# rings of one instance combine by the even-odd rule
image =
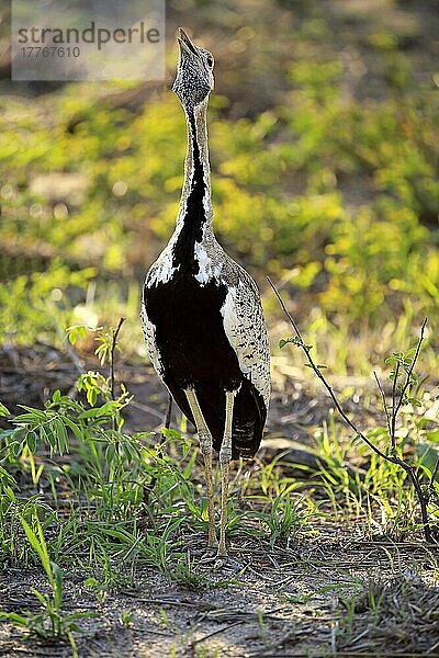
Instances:
[[[322,10],[301,16],[281,97],[243,117],[213,97],[216,230],[260,280],[282,281],[302,317],[316,307],[336,326],[368,330],[409,313],[435,326],[438,92],[434,78],[414,76],[398,36],[368,20],[358,39],[384,84],[374,94],[361,93],[360,47],[334,45],[328,56]],[[185,151],[177,99],[164,92],[132,113],[98,94],[77,84],[0,101],[3,339],[53,330],[56,309],[58,324],[87,320],[75,308],[90,281],[99,315],[119,290],[117,310],[132,316],[137,282],[172,230]]]

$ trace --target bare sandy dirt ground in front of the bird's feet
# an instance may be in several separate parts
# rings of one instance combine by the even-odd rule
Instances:
[[[188,542],[194,554],[200,540]],[[145,571],[136,576],[136,590],[97,602],[75,574],[65,582],[64,608],[99,614],[81,622],[78,649],[85,657],[439,656],[438,555],[414,545],[360,542],[327,526],[283,551],[235,546],[230,567],[196,567],[205,576],[196,589]],[[44,591],[44,578],[5,569],[1,609],[36,610],[31,586]],[[371,591],[378,611],[370,609]],[[64,657],[71,649],[26,638],[7,624],[0,627],[0,655]]]

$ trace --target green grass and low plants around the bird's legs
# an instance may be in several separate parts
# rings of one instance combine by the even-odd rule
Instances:
[[[82,329],[70,328],[72,342],[80,334]],[[114,331],[93,336],[103,363],[111,361]],[[177,430],[125,432],[123,415],[132,396],[121,385],[113,397],[111,374],[80,375],[77,392],[72,399],[56,390],[43,408],[23,406],[0,432],[0,557],[13,565],[40,564],[49,590],[32,590],[40,612],[2,619],[42,637],[67,637],[74,654],[72,633],[87,614],[63,609],[67,570],[78,574],[98,601],[111,590],[137,587],[145,569],[187,589],[232,587],[239,580],[239,575],[217,580],[199,569],[207,509],[192,440]],[[426,422],[418,408],[406,410],[397,450],[417,466],[423,486],[430,486],[428,511],[436,527],[439,485],[428,485],[432,457],[426,461],[421,446],[428,443],[438,455],[437,423]],[[1,413],[9,416],[4,406]],[[376,426],[368,438],[387,450],[387,428]],[[421,541],[417,499],[397,465],[349,438],[334,413],[316,433],[314,447],[317,466],[302,465],[294,477],[294,465],[282,454],[268,464],[238,465],[227,520],[238,553],[258,546],[272,555],[290,551],[322,522],[348,533],[356,529],[365,540]],[[349,631],[344,633],[349,639]]]

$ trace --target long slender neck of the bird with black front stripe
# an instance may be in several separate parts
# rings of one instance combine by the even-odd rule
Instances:
[[[188,150],[184,160],[184,183],[177,224],[191,225],[192,231],[204,235],[212,229],[211,167],[207,146],[207,102],[187,110]]]

